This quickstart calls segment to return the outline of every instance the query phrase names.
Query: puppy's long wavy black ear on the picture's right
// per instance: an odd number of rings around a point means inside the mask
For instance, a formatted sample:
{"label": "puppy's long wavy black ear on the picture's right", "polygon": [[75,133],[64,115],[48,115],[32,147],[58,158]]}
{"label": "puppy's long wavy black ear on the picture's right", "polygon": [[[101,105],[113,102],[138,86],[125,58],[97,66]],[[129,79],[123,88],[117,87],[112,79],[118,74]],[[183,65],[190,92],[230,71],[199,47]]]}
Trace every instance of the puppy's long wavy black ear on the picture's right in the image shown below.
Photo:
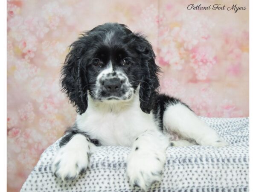
{"label": "puppy's long wavy black ear on the picture's right", "polygon": [[157,74],[160,67],[155,63],[155,54],[151,44],[138,35],[139,44],[137,50],[141,56],[142,79],[140,81],[140,108],[145,113],[150,113],[154,107],[154,99],[158,93],[159,79]]}

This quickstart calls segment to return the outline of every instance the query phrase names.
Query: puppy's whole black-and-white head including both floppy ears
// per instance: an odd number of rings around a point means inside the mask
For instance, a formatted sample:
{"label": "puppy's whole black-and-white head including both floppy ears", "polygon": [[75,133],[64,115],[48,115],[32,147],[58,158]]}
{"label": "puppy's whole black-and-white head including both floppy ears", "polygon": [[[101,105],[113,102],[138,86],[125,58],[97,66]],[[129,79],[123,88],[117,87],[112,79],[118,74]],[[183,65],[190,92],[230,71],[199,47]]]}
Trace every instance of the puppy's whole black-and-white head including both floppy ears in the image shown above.
{"label": "puppy's whole black-and-white head including both floppy ears", "polygon": [[95,101],[129,101],[138,86],[140,108],[150,113],[159,87],[155,55],[143,35],[127,26],[105,23],[85,32],[70,46],[61,85],[82,114],[87,94]]}

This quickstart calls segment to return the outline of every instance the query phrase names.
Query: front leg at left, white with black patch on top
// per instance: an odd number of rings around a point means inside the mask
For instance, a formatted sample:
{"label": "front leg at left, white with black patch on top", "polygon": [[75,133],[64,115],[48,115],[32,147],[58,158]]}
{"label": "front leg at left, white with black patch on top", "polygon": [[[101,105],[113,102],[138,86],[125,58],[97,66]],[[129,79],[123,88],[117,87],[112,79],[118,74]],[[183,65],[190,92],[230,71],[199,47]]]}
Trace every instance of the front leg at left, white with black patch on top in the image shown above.
{"label": "front leg at left, white with black patch on top", "polygon": [[87,169],[90,152],[96,146],[84,134],[70,132],[60,142],[52,163],[52,172],[62,180],[74,180]]}

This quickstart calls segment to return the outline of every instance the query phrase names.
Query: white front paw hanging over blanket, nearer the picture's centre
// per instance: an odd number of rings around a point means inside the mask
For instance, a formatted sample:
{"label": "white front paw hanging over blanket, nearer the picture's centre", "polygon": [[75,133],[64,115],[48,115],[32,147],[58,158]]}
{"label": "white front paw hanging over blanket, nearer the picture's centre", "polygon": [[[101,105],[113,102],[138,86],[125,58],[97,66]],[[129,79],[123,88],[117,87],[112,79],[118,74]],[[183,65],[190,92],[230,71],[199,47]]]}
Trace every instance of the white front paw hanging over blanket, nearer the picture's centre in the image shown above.
{"label": "white front paw hanging over blanket, nearer the picture's centre", "polygon": [[154,181],[161,181],[166,160],[164,152],[132,151],[128,157],[127,174],[131,186],[147,190]]}

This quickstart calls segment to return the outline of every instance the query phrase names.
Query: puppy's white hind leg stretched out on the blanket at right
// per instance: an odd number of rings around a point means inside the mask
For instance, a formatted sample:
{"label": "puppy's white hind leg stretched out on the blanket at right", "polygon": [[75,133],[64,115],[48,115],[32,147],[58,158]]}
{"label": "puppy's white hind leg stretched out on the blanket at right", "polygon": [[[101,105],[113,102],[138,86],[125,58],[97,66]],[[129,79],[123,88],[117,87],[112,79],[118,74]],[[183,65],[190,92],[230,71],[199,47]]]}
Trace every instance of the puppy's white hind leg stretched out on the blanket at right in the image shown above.
{"label": "puppy's white hind leg stretched out on the blanket at right", "polygon": [[215,147],[228,145],[215,130],[181,102],[166,106],[163,125],[167,131],[175,131],[184,138],[195,140],[199,145]]}

